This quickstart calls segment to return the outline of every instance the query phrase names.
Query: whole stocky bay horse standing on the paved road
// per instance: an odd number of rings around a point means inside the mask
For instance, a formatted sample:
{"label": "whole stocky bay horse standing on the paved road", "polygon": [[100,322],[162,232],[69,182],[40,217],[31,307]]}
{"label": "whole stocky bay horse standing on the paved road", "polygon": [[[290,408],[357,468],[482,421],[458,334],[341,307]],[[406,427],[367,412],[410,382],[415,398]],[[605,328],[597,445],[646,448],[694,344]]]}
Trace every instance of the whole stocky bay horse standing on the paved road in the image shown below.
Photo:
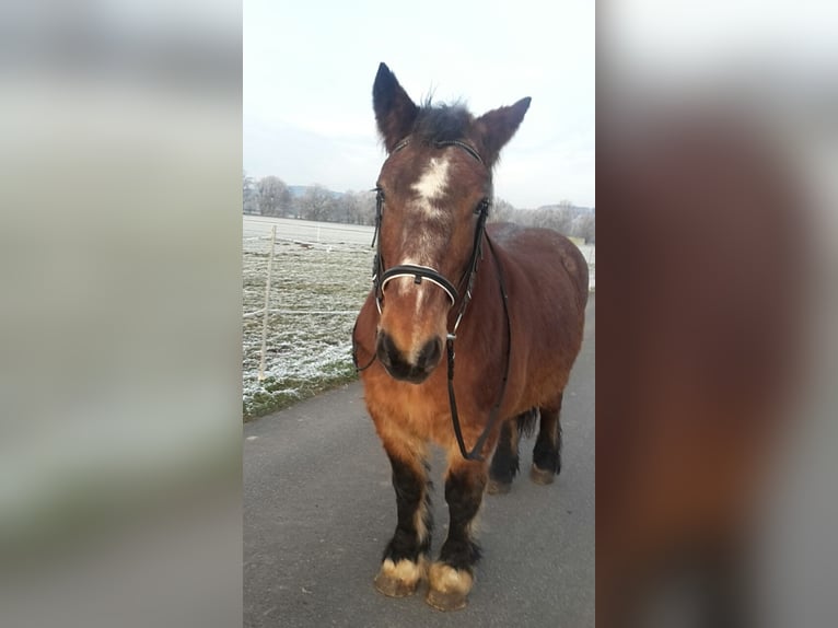
{"label": "whole stocky bay horse standing on the paved road", "polygon": [[[397,510],[374,585],[401,597],[427,580],[426,601],[440,610],[467,605],[480,558],[475,516],[488,487],[508,490],[520,430],[540,417],[535,481],[561,467],[559,411],[582,344],[587,264],[556,231],[486,223],[493,166],[529,103],[480,117],[461,104],[417,105],[385,63],[373,84],[387,158],[373,287],[352,344]],[[446,452],[450,512],[434,561],[431,442]]]}

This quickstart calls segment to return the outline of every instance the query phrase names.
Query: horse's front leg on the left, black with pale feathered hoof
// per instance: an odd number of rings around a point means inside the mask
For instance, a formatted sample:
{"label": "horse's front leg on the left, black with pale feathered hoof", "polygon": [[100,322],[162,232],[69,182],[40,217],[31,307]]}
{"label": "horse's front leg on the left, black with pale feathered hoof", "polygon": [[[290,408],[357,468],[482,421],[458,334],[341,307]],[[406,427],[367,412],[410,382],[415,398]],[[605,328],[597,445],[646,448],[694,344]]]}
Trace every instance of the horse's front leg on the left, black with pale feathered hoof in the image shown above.
{"label": "horse's front leg on the left, black with pale feathered hoof", "polygon": [[375,588],[391,597],[416,592],[426,578],[431,546],[432,515],[424,443],[387,434],[382,438],[393,467],[398,522],[384,549]]}

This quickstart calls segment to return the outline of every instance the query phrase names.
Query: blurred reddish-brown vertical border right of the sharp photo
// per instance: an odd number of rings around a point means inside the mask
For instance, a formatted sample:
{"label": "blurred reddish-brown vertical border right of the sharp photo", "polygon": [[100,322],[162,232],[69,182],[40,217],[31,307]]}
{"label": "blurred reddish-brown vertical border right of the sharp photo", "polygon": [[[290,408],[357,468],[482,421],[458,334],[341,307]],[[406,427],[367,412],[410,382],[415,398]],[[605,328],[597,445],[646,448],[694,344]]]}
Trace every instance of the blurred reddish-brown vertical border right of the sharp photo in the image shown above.
{"label": "blurred reddish-brown vertical border right of the sharp photo", "polygon": [[597,626],[834,626],[838,9],[598,9]]}

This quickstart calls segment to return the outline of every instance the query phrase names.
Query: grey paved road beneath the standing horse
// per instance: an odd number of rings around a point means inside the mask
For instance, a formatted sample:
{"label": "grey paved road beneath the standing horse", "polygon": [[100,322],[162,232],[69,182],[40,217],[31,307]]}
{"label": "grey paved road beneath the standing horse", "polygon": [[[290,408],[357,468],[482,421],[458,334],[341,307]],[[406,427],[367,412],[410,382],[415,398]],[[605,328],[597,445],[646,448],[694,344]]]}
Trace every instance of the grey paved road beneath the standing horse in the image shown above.
{"label": "grey paved road beneath the standing horse", "polygon": [[[440,613],[373,588],[396,521],[389,464],[351,384],[244,428],[244,625],[437,627],[594,625],[594,299],[565,395],[565,467],[487,496],[484,560],[469,606]],[[522,442],[528,468],[533,441]],[[447,509],[432,478],[439,549]]]}

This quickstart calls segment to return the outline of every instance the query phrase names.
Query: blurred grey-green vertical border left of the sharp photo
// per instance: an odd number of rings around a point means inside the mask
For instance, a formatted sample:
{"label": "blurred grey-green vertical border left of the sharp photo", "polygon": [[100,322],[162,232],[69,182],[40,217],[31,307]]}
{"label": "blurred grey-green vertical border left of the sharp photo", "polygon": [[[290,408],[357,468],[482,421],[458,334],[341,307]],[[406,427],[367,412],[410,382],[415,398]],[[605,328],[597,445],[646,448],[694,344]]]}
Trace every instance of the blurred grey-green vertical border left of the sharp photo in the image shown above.
{"label": "blurred grey-green vertical border left of the sharp photo", "polygon": [[0,625],[242,620],[238,2],[0,9]]}

